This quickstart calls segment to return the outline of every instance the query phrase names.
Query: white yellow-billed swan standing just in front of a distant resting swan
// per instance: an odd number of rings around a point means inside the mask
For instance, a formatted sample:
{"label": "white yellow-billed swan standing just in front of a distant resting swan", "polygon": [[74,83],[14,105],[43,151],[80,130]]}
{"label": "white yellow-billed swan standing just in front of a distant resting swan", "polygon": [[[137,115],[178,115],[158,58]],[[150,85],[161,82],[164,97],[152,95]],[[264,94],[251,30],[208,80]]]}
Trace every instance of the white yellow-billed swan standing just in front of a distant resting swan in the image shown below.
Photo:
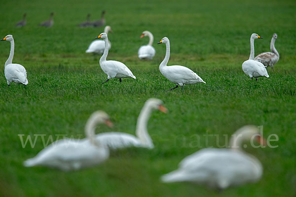
{"label": "white yellow-billed swan standing just in front of a distant resting swan", "polygon": [[100,66],[102,70],[108,75],[108,78],[103,83],[108,82],[111,78],[119,78],[120,83],[121,83],[121,78],[131,77],[136,79],[132,71],[130,71],[130,69],[128,69],[128,67],[125,66],[123,63],[113,61],[113,60],[108,60],[108,61],[106,60],[108,56],[108,51],[109,51],[109,42],[108,42],[107,33],[101,33],[96,38],[103,38],[105,41],[105,49],[100,59]]}

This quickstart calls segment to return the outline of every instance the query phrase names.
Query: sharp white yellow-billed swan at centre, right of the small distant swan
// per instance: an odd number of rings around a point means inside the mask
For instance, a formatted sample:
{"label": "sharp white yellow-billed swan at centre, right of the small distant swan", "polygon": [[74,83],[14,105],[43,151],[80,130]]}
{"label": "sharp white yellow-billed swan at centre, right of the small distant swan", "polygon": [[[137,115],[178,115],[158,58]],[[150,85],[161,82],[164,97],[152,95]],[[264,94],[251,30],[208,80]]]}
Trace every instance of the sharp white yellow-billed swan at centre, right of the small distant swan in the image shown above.
{"label": "sharp white yellow-billed swan at centre, right of the small distant swan", "polygon": [[178,88],[178,85],[183,89],[184,85],[206,83],[195,72],[185,66],[167,66],[170,59],[170,40],[169,38],[164,37],[157,44],[161,43],[166,44],[166,54],[164,60],[159,65],[159,70],[169,81],[177,84],[176,87],[173,87],[170,90]]}

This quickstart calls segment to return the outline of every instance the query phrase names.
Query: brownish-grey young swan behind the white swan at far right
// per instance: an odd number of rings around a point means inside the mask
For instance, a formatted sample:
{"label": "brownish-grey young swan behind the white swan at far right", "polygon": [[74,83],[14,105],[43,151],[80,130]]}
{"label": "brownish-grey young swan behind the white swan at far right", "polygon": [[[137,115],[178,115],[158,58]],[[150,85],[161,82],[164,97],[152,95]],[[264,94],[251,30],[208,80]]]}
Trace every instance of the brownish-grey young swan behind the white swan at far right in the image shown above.
{"label": "brownish-grey young swan behind the white swan at far right", "polygon": [[277,39],[277,34],[273,33],[273,36],[270,41],[271,52],[260,53],[258,56],[255,57],[256,61],[262,63],[266,67],[270,66],[271,68],[273,68],[273,65],[275,65],[280,59],[280,54],[277,52],[277,50],[274,47],[274,43],[276,39]]}

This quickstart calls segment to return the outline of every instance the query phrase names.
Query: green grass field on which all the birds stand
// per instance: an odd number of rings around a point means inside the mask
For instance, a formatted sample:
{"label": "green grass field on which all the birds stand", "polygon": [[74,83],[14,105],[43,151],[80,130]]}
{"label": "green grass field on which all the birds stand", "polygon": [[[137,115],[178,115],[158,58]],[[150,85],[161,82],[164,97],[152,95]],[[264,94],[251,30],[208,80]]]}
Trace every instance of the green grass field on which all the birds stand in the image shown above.
{"label": "green grass field on which all the birds stand", "polygon": [[[100,56],[85,54],[89,43],[103,28],[81,29],[76,25],[100,18],[106,9],[113,33],[109,60],[125,63],[137,77],[111,79],[99,66]],[[55,12],[54,26],[37,27]],[[27,26],[15,28],[27,12]],[[14,63],[28,71],[29,84],[7,87],[4,63],[9,42],[0,42],[0,197],[293,197],[296,195],[296,1],[295,0],[137,0],[1,2],[0,36],[12,34]],[[140,61],[137,51],[148,43],[144,30],[154,34],[156,55]],[[250,35],[255,54],[269,51],[272,33],[280,60],[270,78],[251,80],[242,71],[249,58]],[[184,65],[207,84],[165,91],[175,84],[159,72],[165,46],[156,45],[164,36],[171,42],[168,65]],[[0,38],[0,39],[1,39]],[[61,172],[44,167],[25,168],[22,162],[42,148],[22,148],[18,134],[68,134],[84,136],[84,125],[94,110],[104,110],[114,128],[100,131],[134,133],[138,114],[146,99],[162,99],[169,113],[154,112],[148,131],[155,148],[112,152],[101,165]],[[187,155],[207,146],[203,134],[232,134],[246,124],[263,126],[264,136],[277,134],[277,148],[247,148],[262,163],[258,183],[229,188],[218,194],[188,183],[163,184],[159,177],[177,168]],[[191,142],[200,136],[200,146]],[[221,142],[221,143],[222,143]],[[216,146],[216,139],[209,138]]]}

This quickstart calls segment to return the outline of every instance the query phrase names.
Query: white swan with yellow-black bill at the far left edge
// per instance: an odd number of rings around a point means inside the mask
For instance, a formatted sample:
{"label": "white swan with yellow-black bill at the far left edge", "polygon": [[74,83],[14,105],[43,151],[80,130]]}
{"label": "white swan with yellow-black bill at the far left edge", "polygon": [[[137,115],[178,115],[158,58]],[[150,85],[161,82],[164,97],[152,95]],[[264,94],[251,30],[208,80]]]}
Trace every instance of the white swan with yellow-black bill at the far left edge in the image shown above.
{"label": "white swan with yellow-black bill at the far left edge", "polygon": [[25,67],[19,64],[12,64],[12,59],[14,55],[14,40],[12,35],[6,35],[0,41],[2,40],[7,40],[10,42],[10,54],[4,65],[4,74],[7,80],[7,85],[9,86],[11,82],[27,85],[28,79]]}

